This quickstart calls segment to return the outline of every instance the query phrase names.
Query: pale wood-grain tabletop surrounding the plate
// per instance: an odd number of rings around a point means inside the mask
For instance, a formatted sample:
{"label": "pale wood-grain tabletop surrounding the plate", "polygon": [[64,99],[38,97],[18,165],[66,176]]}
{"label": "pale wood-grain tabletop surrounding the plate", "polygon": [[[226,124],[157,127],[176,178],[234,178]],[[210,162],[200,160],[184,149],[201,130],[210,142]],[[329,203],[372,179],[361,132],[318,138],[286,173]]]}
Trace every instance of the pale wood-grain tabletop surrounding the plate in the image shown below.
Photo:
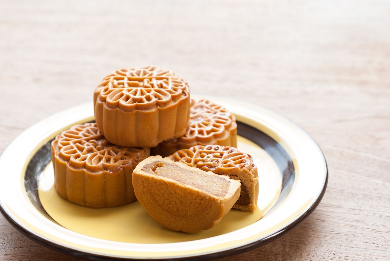
{"label": "pale wood-grain tabletop surrounding the plate", "polygon": [[[193,93],[286,116],[324,152],[323,201],[223,260],[390,260],[388,1],[0,1],[0,61],[0,151],[128,66],[168,67]],[[0,217],[0,260],[80,259]]]}

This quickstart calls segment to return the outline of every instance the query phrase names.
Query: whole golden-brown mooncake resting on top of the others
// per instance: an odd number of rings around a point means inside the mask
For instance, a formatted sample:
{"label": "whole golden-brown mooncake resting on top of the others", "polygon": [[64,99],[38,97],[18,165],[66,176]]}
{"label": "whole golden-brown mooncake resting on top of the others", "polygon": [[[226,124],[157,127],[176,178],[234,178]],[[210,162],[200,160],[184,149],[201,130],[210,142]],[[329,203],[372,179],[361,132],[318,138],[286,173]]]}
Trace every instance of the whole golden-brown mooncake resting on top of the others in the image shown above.
{"label": "whole golden-brown mooncake resting on top of the others", "polygon": [[111,143],[154,147],[186,133],[190,89],[168,69],[121,69],[96,87],[94,111],[97,126]]}

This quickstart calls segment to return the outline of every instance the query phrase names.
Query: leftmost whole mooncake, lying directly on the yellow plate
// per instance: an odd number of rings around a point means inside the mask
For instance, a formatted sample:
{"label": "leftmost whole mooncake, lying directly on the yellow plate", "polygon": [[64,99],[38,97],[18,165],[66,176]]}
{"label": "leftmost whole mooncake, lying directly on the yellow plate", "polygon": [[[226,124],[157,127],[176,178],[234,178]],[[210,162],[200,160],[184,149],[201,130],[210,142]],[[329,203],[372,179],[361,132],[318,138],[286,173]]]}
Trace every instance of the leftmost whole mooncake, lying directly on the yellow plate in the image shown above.
{"label": "leftmost whole mooncake, lying directly on the yellow plate", "polygon": [[76,125],[51,142],[55,189],[73,203],[91,208],[121,206],[136,199],[131,175],[149,148],[109,143],[96,123]]}

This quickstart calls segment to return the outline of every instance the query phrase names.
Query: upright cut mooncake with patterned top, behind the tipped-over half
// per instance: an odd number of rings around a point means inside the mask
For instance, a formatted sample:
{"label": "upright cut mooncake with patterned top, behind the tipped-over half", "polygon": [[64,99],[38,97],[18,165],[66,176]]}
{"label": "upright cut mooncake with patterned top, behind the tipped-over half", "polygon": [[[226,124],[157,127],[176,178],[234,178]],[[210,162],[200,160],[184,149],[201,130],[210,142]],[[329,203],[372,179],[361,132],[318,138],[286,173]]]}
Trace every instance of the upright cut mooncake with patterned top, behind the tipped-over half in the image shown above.
{"label": "upright cut mooncake with patterned top, behind the tipped-over half", "polygon": [[253,158],[229,146],[194,146],[179,150],[169,157],[191,167],[213,171],[241,181],[241,195],[233,208],[253,212],[259,195],[259,178]]}

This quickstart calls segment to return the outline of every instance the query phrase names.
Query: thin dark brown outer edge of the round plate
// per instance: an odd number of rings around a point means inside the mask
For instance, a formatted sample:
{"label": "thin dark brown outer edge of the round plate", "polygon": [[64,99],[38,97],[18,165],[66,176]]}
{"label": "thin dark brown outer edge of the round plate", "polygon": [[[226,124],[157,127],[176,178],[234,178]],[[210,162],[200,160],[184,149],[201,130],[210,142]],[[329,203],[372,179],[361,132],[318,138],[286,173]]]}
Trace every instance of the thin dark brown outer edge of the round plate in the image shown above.
{"label": "thin dark brown outer edge of the round plate", "polygon": [[[213,97],[213,98],[216,98],[216,97]],[[222,98],[222,99],[225,99],[225,100],[228,99],[228,98],[224,98],[224,97],[219,97],[219,98]],[[278,116],[283,117],[285,120],[287,120],[290,123],[292,123],[293,125],[295,125],[295,127],[298,127],[305,134],[305,136],[310,138],[311,141],[319,149],[319,152],[321,153],[321,156],[323,157],[324,166],[325,166],[325,170],[326,170],[325,180],[324,180],[324,184],[322,186],[321,192],[318,194],[317,198],[310,205],[310,207],[305,212],[300,213],[299,217],[296,218],[295,220],[293,220],[291,223],[289,223],[286,226],[278,229],[277,231],[273,231],[272,234],[267,235],[264,238],[260,238],[258,240],[254,240],[254,241],[249,242],[249,243],[243,243],[242,245],[228,247],[228,248],[222,249],[222,250],[215,250],[215,251],[211,251],[211,252],[204,252],[202,254],[190,254],[190,255],[186,255],[186,256],[184,255],[184,256],[177,256],[177,257],[163,257],[163,258],[159,258],[159,257],[145,257],[145,258],[140,258],[140,257],[121,257],[121,256],[112,256],[112,255],[109,255],[109,254],[99,254],[99,253],[96,253],[96,252],[91,252],[89,250],[76,249],[76,248],[71,248],[71,247],[67,247],[67,246],[58,244],[57,242],[55,242],[53,240],[50,240],[50,239],[47,239],[47,238],[45,238],[42,235],[35,235],[31,231],[28,231],[28,229],[24,228],[21,224],[19,224],[17,222],[18,220],[14,220],[11,216],[9,216],[7,214],[7,212],[5,212],[5,210],[3,209],[2,204],[0,204],[0,212],[2,213],[2,215],[5,217],[5,219],[13,227],[15,227],[18,231],[20,231],[22,234],[24,234],[28,238],[32,239],[33,241],[35,241],[37,243],[40,243],[41,245],[44,245],[45,247],[48,247],[50,249],[56,250],[58,252],[62,252],[64,254],[70,254],[72,256],[83,257],[83,258],[94,259],[94,260],[145,260],[145,259],[153,259],[153,260],[167,260],[167,259],[169,259],[169,260],[181,260],[181,259],[186,259],[186,260],[198,260],[198,259],[210,260],[210,259],[230,256],[230,255],[233,255],[233,254],[239,254],[239,253],[245,252],[247,250],[254,249],[256,247],[260,247],[261,245],[269,243],[269,242],[271,242],[271,241],[273,241],[273,240],[275,240],[277,238],[280,238],[281,236],[285,235],[291,229],[293,229],[294,227],[298,226],[303,220],[305,220],[317,208],[317,206],[321,202],[321,199],[323,198],[324,193],[326,191],[329,174],[328,174],[328,166],[327,166],[327,162],[326,162],[324,153],[322,152],[321,148],[316,143],[316,141],[310,136],[310,134],[308,134],[308,132],[306,132],[302,127],[300,127],[296,123],[292,122],[288,118],[286,118],[286,117],[284,117],[284,116],[282,116],[282,115],[280,115],[280,114],[278,114],[278,113],[276,113],[274,111],[271,111],[271,110],[269,110],[267,108],[258,106],[256,104],[253,104],[253,105],[255,105],[257,107],[260,107],[262,109],[265,109],[265,110],[267,110],[267,111],[269,111],[271,113],[277,114]],[[64,112],[64,111],[60,111],[59,113],[62,113],[62,112]],[[45,119],[43,119],[41,121],[44,121]],[[39,124],[41,121],[35,123],[34,125]],[[34,125],[32,125],[32,126],[34,126]],[[30,126],[27,129],[30,129],[32,126]],[[21,134],[19,134],[14,139],[12,139],[12,141],[4,148],[4,150],[0,154],[0,156],[7,150],[7,148],[10,145],[12,145],[13,141],[15,139],[17,139]],[[0,201],[0,203],[1,203],[1,201]]]}

